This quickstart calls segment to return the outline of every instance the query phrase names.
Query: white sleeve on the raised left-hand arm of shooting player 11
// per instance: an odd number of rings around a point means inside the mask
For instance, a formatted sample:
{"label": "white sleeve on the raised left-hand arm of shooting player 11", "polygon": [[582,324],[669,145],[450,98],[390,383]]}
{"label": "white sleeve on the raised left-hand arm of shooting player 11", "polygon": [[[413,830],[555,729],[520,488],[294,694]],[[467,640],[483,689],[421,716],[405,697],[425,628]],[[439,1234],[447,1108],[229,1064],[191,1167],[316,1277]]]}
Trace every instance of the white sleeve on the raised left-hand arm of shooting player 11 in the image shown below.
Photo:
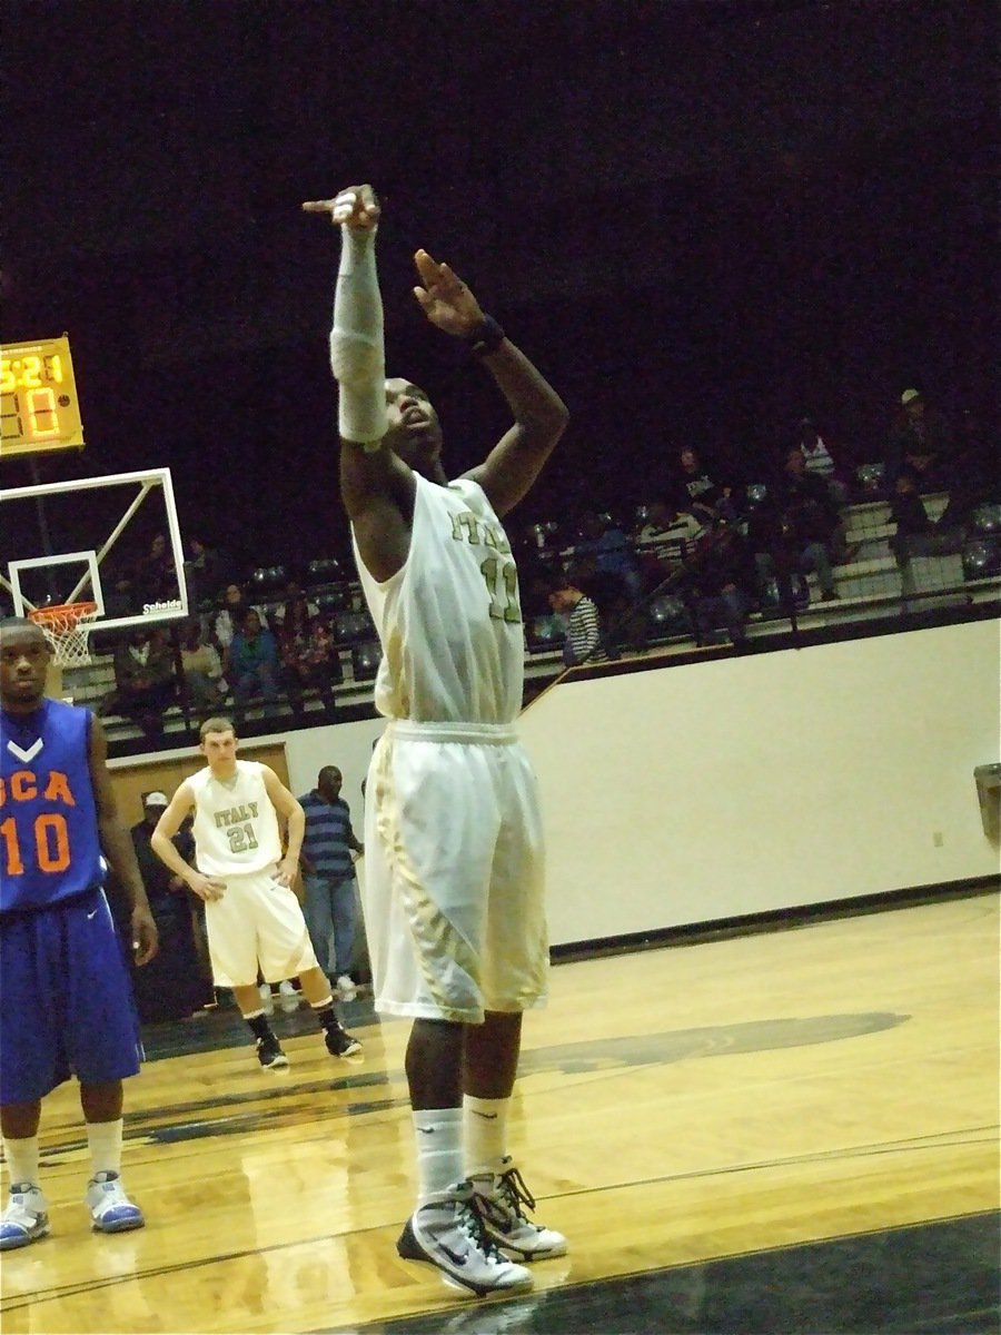
{"label": "white sleeve on the raised left-hand arm of shooting player 11", "polygon": [[340,228],[340,268],[330,331],[330,364],[340,386],[338,425],[344,441],[386,435],[386,351],[375,272],[375,230]]}

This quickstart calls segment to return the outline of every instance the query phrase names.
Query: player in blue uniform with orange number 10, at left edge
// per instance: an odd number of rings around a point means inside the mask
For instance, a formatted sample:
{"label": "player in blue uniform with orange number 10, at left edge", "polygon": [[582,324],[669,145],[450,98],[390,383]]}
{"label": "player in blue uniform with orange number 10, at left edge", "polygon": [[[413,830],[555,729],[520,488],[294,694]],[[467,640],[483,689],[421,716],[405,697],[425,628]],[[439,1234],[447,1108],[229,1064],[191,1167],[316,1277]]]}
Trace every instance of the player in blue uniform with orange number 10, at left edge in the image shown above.
{"label": "player in blue uniform with orange number 10, at left edge", "polygon": [[107,746],[89,710],[45,698],[51,649],[20,617],[0,621],[0,1128],[9,1197],[0,1251],[49,1231],[39,1184],[41,1100],[75,1075],[91,1152],[84,1202],[95,1230],[141,1228],[121,1185],[121,1081],[141,1048],[128,971],[103,881],[132,905],[136,964],[156,925],[115,806]]}

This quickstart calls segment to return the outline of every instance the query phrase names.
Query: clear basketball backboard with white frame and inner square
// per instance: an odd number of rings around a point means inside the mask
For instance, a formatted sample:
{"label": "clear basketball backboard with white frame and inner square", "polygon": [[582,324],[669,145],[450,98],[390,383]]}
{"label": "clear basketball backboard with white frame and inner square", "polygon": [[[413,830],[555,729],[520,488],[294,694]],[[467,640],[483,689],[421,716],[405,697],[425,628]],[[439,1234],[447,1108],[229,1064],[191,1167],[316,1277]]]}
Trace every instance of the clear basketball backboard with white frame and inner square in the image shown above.
{"label": "clear basketball backboard with white frame and inner square", "polygon": [[95,630],[188,615],[170,469],[0,489],[0,590],[15,615],[83,599],[97,603]]}

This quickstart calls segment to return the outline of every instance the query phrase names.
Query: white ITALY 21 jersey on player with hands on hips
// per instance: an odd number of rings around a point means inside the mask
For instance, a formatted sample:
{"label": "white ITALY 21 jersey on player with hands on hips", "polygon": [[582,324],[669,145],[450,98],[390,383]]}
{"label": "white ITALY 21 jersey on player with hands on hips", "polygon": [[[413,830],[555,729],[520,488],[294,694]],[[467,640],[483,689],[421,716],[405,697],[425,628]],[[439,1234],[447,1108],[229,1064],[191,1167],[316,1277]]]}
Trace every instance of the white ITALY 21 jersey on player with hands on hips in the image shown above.
{"label": "white ITALY 21 jersey on player with hands on hips", "polygon": [[263,770],[255,760],[238,760],[232,778],[215,778],[206,765],[188,780],[195,862],[204,876],[262,872],[282,860],[282,832]]}

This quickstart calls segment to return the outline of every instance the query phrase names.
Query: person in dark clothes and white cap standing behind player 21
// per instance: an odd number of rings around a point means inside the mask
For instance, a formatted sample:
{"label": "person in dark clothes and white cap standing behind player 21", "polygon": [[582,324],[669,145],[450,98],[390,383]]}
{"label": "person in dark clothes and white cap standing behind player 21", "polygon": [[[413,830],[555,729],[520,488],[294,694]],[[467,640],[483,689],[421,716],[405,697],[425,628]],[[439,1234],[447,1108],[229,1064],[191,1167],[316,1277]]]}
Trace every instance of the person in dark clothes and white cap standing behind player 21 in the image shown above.
{"label": "person in dark clothes and white cap standing behind player 21", "polygon": [[[143,820],[131,830],[139,874],[160,937],[155,959],[141,969],[132,969],[132,991],[144,1024],[184,1020],[212,999],[211,981],[202,976],[187,886],[163,865],[149,842],[165,809],[165,793],[145,793]],[[195,841],[190,830],[179,830],[174,845],[186,862],[194,864]]]}

